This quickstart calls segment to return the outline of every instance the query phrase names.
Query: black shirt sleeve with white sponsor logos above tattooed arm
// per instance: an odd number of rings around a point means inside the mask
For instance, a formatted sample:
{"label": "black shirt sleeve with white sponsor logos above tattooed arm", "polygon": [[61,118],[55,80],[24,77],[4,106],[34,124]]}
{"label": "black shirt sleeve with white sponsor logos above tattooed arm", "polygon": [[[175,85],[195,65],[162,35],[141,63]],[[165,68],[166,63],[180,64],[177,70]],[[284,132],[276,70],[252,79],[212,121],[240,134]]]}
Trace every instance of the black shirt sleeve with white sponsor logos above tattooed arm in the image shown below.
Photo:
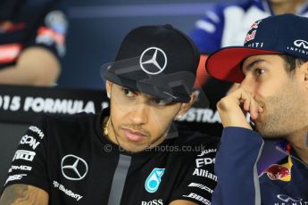
{"label": "black shirt sleeve with white sponsor logos above tattooed arm", "polygon": [[39,119],[21,136],[4,188],[29,184],[49,193],[46,170],[46,127],[44,119]]}

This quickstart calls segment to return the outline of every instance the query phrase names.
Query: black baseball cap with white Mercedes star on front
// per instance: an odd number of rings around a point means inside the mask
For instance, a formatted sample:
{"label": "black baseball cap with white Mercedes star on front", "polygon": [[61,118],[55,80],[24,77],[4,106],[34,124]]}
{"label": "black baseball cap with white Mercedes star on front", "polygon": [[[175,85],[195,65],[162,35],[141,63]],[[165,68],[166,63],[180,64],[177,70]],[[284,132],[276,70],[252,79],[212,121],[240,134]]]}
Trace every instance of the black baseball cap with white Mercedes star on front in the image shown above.
{"label": "black baseball cap with white Mercedes star on front", "polygon": [[171,25],[132,29],[103,76],[114,84],[170,102],[188,102],[200,53],[192,40]]}

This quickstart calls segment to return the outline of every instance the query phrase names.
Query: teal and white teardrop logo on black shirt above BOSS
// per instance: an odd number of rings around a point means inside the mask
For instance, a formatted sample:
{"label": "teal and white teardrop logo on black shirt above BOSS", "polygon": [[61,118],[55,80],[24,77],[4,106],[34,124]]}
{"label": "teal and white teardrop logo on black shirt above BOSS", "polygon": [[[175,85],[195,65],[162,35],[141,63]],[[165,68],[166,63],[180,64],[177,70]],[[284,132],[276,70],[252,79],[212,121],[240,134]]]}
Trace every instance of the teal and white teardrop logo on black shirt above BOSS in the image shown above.
{"label": "teal and white teardrop logo on black shirt above BOSS", "polygon": [[154,168],[150,175],[147,176],[145,187],[148,193],[155,193],[158,190],[164,170],[165,168]]}

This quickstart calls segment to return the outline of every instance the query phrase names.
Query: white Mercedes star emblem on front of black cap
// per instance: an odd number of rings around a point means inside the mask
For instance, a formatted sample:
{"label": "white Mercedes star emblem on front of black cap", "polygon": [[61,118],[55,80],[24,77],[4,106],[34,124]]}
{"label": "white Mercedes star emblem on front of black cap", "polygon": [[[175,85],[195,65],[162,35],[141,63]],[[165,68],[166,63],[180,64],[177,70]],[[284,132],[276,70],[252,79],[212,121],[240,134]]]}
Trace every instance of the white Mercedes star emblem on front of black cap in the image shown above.
{"label": "white Mercedes star emblem on front of black cap", "polygon": [[139,59],[140,67],[147,74],[157,75],[167,66],[167,56],[158,47],[149,47],[141,54]]}

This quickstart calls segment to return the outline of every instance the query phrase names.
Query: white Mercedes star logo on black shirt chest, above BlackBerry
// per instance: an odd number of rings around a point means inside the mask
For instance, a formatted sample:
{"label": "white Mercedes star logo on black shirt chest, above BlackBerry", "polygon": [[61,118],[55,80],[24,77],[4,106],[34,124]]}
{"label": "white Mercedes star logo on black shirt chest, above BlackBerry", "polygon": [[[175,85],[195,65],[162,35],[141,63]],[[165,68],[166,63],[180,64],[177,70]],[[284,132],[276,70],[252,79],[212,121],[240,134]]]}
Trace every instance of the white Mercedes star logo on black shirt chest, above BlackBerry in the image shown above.
{"label": "white Mercedes star logo on black shirt chest, above BlackBerry", "polygon": [[62,175],[69,180],[81,180],[87,175],[87,162],[75,155],[68,154],[62,158]]}

